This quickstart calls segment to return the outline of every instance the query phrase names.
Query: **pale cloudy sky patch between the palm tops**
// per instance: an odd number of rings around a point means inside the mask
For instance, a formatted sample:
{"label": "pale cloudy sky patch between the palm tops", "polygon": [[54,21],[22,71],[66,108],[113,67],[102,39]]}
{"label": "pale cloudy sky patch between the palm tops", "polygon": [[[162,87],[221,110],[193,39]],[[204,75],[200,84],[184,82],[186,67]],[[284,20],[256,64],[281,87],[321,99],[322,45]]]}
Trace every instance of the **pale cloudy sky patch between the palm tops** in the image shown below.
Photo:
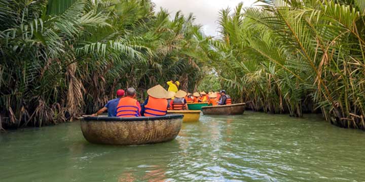
{"label": "pale cloudy sky patch between the palm tops", "polygon": [[193,13],[196,20],[195,23],[203,25],[202,29],[205,34],[217,35],[217,19],[219,11],[230,7],[234,10],[236,6],[243,2],[244,7],[251,7],[257,0],[152,0],[156,4],[157,10],[160,7],[167,9],[170,17],[173,18],[179,10],[184,15]]}

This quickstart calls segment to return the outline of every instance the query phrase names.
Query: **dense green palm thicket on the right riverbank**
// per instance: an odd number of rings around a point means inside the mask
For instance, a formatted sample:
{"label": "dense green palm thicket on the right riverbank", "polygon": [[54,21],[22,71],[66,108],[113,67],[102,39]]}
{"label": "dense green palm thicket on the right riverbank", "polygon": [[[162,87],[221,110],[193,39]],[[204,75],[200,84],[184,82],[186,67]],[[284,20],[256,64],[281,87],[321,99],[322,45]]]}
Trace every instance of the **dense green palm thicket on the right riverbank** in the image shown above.
{"label": "dense green palm thicket on the right riverbank", "polygon": [[365,2],[260,4],[221,11],[222,37],[203,47],[223,86],[254,110],[364,129]]}

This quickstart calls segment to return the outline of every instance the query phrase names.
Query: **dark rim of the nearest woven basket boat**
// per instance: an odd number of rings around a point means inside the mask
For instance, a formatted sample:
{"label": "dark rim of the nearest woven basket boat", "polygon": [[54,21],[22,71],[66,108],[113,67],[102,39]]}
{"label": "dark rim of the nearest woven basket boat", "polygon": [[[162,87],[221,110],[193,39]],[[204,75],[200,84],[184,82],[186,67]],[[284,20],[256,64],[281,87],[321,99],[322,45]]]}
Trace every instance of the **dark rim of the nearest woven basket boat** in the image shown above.
{"label": "dark rim of the nearest woven basket boat", "polygon": [[104,117],[104,116],[85,116],[82,119],[84,121],[154,121],[161,119],[180,119],[183,118],[182,114],[170,114],[165,116],[153,116],[153,117]]}

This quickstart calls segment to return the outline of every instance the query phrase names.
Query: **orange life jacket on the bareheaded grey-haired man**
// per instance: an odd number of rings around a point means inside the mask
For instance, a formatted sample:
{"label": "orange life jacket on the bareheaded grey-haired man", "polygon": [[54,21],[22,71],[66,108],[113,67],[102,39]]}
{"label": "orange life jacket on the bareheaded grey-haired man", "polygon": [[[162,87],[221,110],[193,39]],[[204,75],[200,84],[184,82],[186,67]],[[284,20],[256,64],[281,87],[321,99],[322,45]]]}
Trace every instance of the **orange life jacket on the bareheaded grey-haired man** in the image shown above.
{"label": "orange life jacket on the bareheaded grey-haired man", "polygon": [[137,100],[131,97],[124,97],[119,100],[117,110],[117,117],[138,117],[139,108],[137,107]]}

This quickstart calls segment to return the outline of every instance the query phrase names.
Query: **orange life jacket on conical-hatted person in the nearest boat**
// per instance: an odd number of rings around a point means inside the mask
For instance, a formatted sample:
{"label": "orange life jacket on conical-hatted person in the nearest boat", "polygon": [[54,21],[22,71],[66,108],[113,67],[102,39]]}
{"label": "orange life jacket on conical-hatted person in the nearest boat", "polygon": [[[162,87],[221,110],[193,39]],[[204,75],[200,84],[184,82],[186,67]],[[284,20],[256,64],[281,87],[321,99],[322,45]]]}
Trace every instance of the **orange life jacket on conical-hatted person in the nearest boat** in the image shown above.
{"label": "orange life jacket on conical-hatted person in the nearest boat", "polygon": [[167,100],[149,96],[149,101],[144,106],[144,116],[164,116],[166,113]]}

